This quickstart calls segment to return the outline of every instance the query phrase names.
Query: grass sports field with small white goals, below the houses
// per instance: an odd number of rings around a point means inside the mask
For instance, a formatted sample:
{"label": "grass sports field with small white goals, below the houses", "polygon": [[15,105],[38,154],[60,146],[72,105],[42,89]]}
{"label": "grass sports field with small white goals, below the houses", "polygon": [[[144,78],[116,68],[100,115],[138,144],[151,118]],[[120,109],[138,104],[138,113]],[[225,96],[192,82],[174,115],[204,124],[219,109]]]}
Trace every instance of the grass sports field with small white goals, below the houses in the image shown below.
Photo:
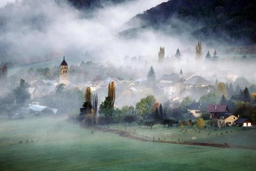
{"label": "grass sports field with small white goals, below the houses", "polygon": [[[106,127],[106,126],[102,126]],[[132,123],[130,126],[127,124],[112,124],[109,126],[114,130],[126,130],[132,132],[133,135],[139,136],[145,139],[166,140],[166,141],[189,141],[189,142],[206,142],[217,144],[229,144],[231,146],[240,146],[245,148],[256,149],[256,129],[245,128],[239,126],[225,126],[218,129],[214,126],[207,125],[207,130],[195,129],[190,126],[184,127],[182,130],[180,127],[164,127],[157,124],[153,126],[151,130],[149,127],[139,127],[136,123]],[[172,136],[164,136],[164,134],[170,133]],[[197,140],[191,140],[192,137],[196,137]]]}

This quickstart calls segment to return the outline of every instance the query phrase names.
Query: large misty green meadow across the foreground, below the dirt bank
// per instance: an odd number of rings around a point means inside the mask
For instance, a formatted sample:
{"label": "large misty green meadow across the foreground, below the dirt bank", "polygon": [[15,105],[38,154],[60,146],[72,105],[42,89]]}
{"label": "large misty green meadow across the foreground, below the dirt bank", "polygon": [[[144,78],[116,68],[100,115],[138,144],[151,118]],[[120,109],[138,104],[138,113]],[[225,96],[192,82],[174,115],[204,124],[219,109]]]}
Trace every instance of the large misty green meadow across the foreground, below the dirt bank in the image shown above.
{"label": "large misty green meadow across the foreground, below the dirt bank", "polygon": [[253,170],[256,167],[256,151],[252,149],[142,142],[109,132],[92,134],[91,130],[67,122],[66,117],[23,120],[0,117],[0,149],[0,170]]}

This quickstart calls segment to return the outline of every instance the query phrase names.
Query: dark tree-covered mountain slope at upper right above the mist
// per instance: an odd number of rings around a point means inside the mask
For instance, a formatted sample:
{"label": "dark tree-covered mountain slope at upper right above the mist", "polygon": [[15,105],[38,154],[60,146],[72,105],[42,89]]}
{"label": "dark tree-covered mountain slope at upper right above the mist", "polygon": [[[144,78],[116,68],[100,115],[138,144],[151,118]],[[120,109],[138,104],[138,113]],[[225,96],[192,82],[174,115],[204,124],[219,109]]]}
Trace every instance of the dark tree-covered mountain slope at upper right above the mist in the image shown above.
{"label": "dark tree-covered mountain slope at upper right above the mist", "polygon": [[256,42],[255,16],[256,3],[250,0],[171,0],[136,15],[128,24],[132,32],[154,28],[166,33],[188,31],[198,38]]}

